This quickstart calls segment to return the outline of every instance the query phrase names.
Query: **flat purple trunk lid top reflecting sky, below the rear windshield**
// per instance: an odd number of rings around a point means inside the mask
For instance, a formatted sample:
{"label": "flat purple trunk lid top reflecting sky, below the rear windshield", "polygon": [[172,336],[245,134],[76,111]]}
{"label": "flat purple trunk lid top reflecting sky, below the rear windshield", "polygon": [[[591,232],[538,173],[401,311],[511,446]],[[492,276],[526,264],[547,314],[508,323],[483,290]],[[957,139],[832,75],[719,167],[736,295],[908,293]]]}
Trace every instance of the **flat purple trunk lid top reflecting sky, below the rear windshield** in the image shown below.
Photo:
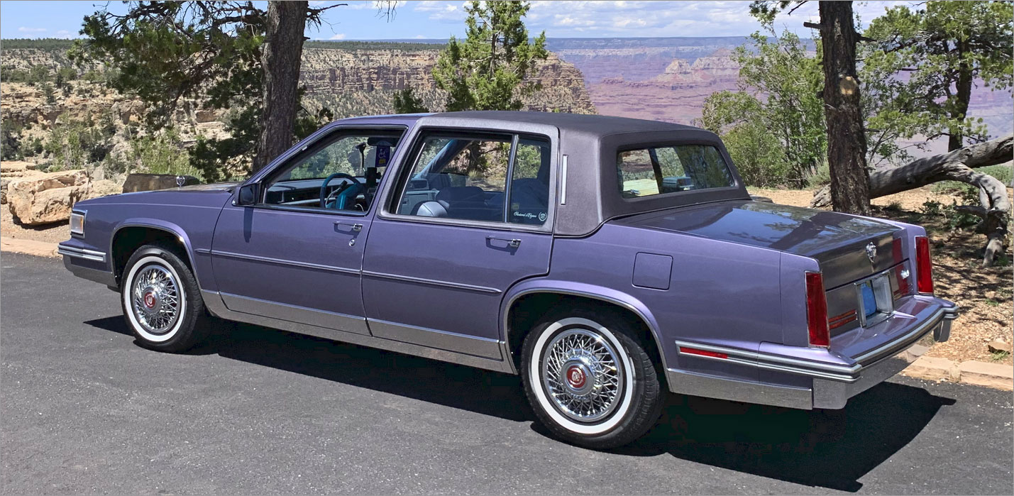
{"label": "flat purple trunk lid top reflecting sky, below the rear windshield", "polygon": [[619,223],[817,258],[898,229],[868,217],[745,200],[635,215]]}

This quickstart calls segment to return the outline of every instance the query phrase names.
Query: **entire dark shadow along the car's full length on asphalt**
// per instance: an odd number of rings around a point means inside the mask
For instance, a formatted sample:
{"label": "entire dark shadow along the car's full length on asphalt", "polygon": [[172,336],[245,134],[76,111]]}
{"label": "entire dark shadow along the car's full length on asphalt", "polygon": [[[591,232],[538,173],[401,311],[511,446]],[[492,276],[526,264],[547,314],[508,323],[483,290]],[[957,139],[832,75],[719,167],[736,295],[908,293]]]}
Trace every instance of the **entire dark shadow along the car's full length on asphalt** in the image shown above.
{"label": "entire dark shadow along the car's full length on asphalt", "polygon": [[[85,324],[131,336],[122,316]],[[495,416],[534,421],[520,378],[260,326],[221,326],[190,352]],[[396,379],[394,379],[396,377]],[[618,455],[669,454],[796,484],[858,491],[859,479],[912,441],[954,400],[884,382],[844,410],[792,410],[670,395],[662,419]],[[538,423],[531,428],[549,432]]]}

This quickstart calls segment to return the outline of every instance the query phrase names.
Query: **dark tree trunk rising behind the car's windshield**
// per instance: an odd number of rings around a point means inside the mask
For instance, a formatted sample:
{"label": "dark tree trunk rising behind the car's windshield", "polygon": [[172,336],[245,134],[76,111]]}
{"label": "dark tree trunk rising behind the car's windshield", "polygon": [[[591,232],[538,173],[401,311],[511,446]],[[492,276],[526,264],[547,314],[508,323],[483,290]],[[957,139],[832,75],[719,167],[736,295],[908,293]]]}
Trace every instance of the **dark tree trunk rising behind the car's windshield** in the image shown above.
{"label": "dark tree trunk rising behind the car's windshield", "polygon": [[255,171],[292,146],[307,9],[305,1],[268,2],[268,25],[261,55],[264,101]]}

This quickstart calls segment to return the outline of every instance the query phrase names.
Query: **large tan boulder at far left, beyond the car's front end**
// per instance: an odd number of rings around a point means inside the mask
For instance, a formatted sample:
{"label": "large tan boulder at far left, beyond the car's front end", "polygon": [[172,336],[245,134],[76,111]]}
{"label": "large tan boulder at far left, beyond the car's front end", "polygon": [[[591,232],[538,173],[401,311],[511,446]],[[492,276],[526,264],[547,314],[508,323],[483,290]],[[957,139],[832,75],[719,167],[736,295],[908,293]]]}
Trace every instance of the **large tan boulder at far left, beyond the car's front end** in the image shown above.
{"label": "large tan boulder at far left, beyond the car's front end", "polygon": [[87,197],[91,182],[84,170],[41,173],[7,185],[10,213],[25,225],[50,224],[70,219],[70,210]]}

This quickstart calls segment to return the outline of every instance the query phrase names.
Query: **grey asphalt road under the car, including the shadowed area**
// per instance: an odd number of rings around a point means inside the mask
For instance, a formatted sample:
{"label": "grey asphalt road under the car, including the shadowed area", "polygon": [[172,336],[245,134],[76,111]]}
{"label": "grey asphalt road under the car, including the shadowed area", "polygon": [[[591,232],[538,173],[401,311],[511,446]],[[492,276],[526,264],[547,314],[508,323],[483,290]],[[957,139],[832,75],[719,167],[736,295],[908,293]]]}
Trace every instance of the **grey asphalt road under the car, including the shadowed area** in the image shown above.
{"label": "grey asphalt road under the car, including the shadowed area", "polygon": [[596,452],[547,437],[514,376],[249,326],[159,354],[59,261],[0,264],[3,493],[1011,493],[1010,393],[897,378],[839,414],[673,397]]}

